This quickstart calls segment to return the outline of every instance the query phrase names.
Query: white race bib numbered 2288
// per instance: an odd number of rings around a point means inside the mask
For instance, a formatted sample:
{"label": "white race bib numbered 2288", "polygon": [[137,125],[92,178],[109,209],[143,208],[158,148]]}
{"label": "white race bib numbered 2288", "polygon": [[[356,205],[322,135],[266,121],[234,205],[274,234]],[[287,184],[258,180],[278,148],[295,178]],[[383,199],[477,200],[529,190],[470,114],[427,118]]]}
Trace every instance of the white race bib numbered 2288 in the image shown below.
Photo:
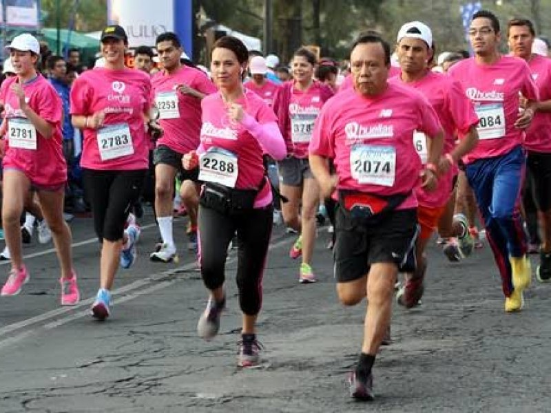
{"label": "white race bib numbered 2288", "polygon": [[226,149],[212,147],[199,157],[199,180],[236,186],[239,175],[238,158]]}

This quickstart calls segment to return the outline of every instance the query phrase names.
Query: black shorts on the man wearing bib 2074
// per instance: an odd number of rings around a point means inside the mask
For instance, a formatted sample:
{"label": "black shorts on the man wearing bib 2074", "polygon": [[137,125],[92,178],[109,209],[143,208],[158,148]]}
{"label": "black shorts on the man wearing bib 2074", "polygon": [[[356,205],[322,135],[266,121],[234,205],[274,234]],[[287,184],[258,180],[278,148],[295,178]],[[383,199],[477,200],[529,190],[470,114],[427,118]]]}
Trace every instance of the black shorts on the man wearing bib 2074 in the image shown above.
{"label": "black shorts on the man wearing bib 2074", "polygon": [[333,257],[337,282],[362,278],[371,264],[391,262],[402,267],[413,255],[417,209],[392,211],[373,224],[365,224],[345,214],[337,205],[335,234]]}

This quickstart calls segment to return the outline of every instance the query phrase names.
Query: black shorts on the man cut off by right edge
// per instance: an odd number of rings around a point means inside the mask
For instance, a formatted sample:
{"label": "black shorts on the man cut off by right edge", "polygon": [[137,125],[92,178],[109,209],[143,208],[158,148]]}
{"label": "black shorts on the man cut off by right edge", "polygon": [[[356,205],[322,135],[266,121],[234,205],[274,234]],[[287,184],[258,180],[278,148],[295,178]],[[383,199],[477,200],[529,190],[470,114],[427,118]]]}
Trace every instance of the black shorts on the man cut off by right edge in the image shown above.
{"label": "black shorts on the man cut off by right edge", "polygon": [[551,209],[551,153],[528,151],[526,165],[530,170],[532,195],[538,211]]}

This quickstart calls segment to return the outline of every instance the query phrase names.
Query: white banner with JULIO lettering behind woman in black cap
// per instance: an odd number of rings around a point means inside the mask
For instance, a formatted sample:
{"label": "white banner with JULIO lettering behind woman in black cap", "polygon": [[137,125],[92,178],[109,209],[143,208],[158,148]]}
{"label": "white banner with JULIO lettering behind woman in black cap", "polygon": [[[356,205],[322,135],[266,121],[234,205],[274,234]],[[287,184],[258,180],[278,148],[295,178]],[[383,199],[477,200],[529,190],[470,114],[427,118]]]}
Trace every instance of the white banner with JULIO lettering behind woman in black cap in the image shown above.
{"label": "white banner with JULIO lettering behind woman in black cap", "polygon": [[174,32],[174,0],[108,0],[110,23],[126,30],[130,47],[155,46],[164,32]]}

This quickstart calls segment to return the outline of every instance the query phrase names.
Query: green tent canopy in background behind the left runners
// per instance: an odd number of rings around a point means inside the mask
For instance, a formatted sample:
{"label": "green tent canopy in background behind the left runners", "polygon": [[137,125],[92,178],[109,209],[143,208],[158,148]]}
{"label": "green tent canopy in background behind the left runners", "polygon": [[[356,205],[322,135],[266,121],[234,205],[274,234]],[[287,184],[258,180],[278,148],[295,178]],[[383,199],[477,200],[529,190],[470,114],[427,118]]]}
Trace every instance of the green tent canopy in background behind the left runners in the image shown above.
{"label": "green tent canopy in background behind the left runners", "polygon": [[[40,30],[41,36],[48,43],[48,47],[52,52],[57,53],[57,29],[55,28],[43,28]],[[69,41],[67,43],[67,40]],[[81,61],[88,63],[89,65],[94,63],[94,58],[97,52],[99,52],[99,41],[87,36],[86,34],[74,32],[67,29],[59,30],[59,50],[61,55],[67,49],[79,49],[81,51]]]}

